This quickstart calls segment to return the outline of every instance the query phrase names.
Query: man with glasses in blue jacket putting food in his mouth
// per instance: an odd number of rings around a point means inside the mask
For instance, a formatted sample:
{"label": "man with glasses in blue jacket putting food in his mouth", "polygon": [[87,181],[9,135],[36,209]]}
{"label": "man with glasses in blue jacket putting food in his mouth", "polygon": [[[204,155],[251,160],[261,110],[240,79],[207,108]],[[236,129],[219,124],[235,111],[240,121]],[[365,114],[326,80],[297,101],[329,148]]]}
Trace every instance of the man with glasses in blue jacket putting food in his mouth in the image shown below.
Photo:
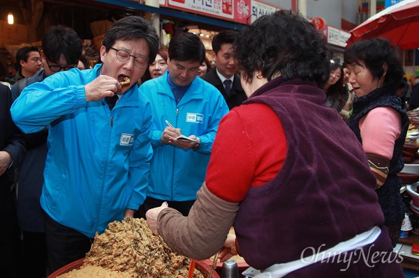
{"label": "man with glasses in blue jacket putting food in his mouth", "polygon": [[102,44],[103,63],[31,84],[11,109],[24,132],[49,130],[41,207],[51,272],[84,258],[96,232],[133,216],[145,200],[152,109],[137,82],[159,36],[131,16],[112,24]]}

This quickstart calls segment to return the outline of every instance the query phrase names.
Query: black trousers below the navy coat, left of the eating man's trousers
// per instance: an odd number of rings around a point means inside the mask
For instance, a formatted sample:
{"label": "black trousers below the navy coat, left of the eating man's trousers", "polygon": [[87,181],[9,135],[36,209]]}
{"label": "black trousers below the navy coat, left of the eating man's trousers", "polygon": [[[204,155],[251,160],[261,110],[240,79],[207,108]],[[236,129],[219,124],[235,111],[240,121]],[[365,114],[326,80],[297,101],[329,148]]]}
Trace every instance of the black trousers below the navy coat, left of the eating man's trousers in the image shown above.
{"label": "black trousers below the navy coat, left of the eating man's trousers", "polygon": [[47,277],[47,242],[45,233],[23,231],[23,277]]}

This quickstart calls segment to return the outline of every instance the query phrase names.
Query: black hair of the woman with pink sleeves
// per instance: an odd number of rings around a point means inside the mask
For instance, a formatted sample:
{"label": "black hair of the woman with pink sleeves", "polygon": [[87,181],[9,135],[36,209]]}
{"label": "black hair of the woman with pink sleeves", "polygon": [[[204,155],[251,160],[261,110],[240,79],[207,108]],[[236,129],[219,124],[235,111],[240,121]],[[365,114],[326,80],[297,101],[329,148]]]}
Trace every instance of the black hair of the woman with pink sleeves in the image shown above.
{"label": "black hair of the woman with pink sleeves", "polygon": [[346,49],[344,60],[348,65],[365,63],[372,76],[378,79],[383,77],[384,65],[387,65],[383,86],[396,89],[403,78],[402,61],[386,38],[370,38],[353,43]]}

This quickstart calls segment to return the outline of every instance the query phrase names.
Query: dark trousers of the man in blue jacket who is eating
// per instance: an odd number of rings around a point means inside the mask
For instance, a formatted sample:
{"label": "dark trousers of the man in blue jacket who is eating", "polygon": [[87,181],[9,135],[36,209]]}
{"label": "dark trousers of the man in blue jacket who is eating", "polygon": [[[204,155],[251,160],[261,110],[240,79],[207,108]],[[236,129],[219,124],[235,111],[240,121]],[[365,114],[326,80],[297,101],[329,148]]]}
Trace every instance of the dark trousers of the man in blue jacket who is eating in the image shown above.
{"label": "dark trousers of the man in blue jacket who is eating", "polygon": [[48,270],[59,270],[68,263],[84,258],[89,252],[93,239],[61,225],[44,212],[45,239],[47,242]]}

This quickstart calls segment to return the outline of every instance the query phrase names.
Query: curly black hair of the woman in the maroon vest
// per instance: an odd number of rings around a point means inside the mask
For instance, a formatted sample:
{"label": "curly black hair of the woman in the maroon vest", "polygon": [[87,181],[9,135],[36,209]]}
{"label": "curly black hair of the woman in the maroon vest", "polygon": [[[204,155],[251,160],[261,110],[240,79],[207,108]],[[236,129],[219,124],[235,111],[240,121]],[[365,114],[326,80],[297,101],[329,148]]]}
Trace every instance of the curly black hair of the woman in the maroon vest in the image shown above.
{"label": "curly black hair of the woman in the maroon vest", "polygon": [[235,42],[242,77],[248,82],[261,70],[271,80],[300,77],[314,80],[320,88],[329,78],[332,52],[326,37],[300,13],[278,10],[248,25]]}

